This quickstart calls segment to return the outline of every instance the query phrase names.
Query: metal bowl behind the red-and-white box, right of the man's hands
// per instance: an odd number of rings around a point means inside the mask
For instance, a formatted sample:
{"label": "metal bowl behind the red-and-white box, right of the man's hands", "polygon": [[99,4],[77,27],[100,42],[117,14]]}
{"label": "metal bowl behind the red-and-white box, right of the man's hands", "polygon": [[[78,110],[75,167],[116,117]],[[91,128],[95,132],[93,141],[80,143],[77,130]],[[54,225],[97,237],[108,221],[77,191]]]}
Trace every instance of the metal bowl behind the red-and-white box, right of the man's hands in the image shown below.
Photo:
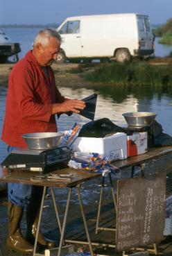
{"label": "metal bowl behind the red-and-white box, right of the man's hands", "polygon": [[153,112],[128,112],[124,113],[128,126],[144,127],[151,126],[157,114]]}

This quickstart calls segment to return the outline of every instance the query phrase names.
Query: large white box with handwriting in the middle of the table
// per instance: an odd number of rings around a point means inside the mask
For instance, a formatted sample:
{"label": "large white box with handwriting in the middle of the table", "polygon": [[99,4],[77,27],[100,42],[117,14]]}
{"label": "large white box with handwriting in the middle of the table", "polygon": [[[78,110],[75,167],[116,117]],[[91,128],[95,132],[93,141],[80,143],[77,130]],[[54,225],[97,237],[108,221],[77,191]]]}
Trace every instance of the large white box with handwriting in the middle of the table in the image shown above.
{"label": "large white box with handwriting in the middle of the table", "polygon": [[77,137],[71,148],[77,152],[98,153],[110,160],[127,158],[127,136],[125,133],[115,133],[103,138]]}

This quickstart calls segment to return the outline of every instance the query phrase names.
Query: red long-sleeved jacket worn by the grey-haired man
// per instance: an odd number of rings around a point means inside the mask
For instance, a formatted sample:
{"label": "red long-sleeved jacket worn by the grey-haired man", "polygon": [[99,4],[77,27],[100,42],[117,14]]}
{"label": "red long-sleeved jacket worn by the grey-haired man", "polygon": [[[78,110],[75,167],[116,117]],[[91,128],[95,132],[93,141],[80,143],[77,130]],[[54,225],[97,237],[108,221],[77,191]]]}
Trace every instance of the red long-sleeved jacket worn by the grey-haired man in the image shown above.
{"label": "red long-sleeved jacket worn by the grey-haired man", "polygon": [[49,78],[29,51],[13,67],[8,80],[6,114],[3,123],[3,142],[10,146],[26,147],[24,133],[55,132],[53,103],[65,100],[57,87],[51,67],[46,67]]}

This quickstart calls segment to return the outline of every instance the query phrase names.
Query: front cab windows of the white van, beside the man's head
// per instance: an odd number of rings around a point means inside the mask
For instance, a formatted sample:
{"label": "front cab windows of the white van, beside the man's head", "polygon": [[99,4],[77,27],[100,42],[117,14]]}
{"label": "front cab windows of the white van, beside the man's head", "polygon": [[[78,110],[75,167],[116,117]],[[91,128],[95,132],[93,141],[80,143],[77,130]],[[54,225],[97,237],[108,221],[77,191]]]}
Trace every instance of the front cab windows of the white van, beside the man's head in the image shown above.
{"label": "front cab windows of the white van, beside the man's head", "polygon": [[80,21],[72,20],[66,22],[60,29],[60,34],[75,34],[80,33]]}

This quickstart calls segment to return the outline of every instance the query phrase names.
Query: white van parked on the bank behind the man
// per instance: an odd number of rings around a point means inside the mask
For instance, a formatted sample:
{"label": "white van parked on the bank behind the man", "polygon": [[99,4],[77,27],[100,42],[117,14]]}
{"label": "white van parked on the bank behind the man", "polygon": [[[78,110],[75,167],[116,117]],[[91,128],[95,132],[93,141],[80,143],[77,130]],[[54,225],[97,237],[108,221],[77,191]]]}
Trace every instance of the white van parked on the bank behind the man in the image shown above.
{"label": "white van parked on the bank behind the man", "polygon": [[72,58],[149,56],[154,52],[147,15],[134,13],[69,17],[57,28],[62,37],[58,62]]}

